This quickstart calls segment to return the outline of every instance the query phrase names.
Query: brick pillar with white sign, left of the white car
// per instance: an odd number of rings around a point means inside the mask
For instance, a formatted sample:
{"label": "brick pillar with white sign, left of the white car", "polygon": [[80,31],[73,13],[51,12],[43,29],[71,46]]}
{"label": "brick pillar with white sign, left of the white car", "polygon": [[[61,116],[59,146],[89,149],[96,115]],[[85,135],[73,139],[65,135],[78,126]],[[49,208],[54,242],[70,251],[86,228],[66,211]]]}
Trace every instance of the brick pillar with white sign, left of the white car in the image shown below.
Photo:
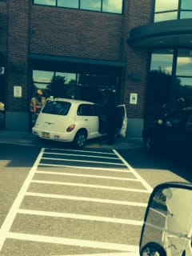
{"label": "brick pillar with white sign, left of the white car", "polygon": [[[6,111],[26,111],[28,100],[29,1],[7,1]],[[22,98],[14,97],[14,86],[22,86]]]}

